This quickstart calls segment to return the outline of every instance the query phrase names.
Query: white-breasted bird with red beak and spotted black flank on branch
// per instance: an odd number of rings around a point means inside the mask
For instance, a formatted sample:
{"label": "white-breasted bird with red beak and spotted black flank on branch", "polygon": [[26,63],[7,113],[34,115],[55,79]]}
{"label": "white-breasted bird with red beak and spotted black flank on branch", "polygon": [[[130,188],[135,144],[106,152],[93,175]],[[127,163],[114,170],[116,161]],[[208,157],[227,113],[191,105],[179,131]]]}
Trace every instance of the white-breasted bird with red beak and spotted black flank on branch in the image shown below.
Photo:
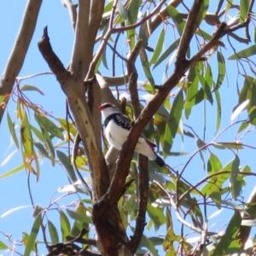
{"label": "white-breasted bird with red beak and spotted black flank on branch", "polygon": [[[104,103],[99,106],[99,108],[102,112],[102,118],[104,119],[104,125],[106,127],[105,135],[108,143],[113,146],[113,148],[121,150],[131,129],[131,120],[125,114],[121,113],[119,108],[116,108],[110,103]],[[148,140],[147,137],[140,135],[135,152],[154,160],[160,167],[166,166],[165,161],[154,152],[155,147],[156,145]]]}

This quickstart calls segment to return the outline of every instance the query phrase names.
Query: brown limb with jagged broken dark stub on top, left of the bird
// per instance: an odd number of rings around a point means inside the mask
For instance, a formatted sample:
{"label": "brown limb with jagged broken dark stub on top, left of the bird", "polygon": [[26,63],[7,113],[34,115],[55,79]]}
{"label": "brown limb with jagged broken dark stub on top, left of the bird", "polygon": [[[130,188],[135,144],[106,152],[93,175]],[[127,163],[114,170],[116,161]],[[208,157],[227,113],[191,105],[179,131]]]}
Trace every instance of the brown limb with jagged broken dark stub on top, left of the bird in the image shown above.
{"label": "brown limb with jagged broken dark stub on top, left of the bird", "polygon": [[63,67],[49,44],[47,28],[44,28],[44,35],[42,40],[38,42],[38,48],[44,60],[48,63],[50,70],[55,73],[56,79],[61,84],[61,89],[67,96],[79,135],[84,144],[85,153],[88,156],[90,175],[93,180],[93,191],[95,192],[94,196],[101,197],[108,189],[108,171],[102,151],[98,148],[94,120],[85,102],[83,93],[84,82],[80,81],[82,84],[79,84],[79,81],[73,78],[73,74]]}

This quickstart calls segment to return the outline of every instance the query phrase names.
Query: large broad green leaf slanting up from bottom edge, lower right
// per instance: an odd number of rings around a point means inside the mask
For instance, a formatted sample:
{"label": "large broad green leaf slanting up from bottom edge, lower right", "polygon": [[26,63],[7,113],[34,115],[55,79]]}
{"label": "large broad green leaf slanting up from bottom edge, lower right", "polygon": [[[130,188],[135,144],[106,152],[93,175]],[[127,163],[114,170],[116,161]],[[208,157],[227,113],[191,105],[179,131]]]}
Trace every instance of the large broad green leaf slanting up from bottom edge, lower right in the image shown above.
{"label": "large broad green leaf slanting up from bottom edge, lower right", "polygon": [[225,230],[224,236],[218,242],[212,256],[225,255],[227,249],[230,247],[232,241],[235,241],[236,235],[241,227],[241,213],[235,211],[233,217],[230,219],[230,223]]}

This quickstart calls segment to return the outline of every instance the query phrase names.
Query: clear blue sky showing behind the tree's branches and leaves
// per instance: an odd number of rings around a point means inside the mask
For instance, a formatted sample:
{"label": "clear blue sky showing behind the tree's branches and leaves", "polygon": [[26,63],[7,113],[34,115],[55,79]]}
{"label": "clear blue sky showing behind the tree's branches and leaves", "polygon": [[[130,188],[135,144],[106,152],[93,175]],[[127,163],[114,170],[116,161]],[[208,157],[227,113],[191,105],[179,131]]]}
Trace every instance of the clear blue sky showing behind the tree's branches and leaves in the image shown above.
{"label": "clear blue sky showing behind the tree's branches and leaves", "polygon": [[[23,10],[26,6],[25,0],[16,1],[15,8],[13,6],[14,3],[8,0],[1,0],[2,9],[0,9],[0,34],[2,36],[2,43],[0,48],[0,71],[3,72],[3,68],[6,64],[6,61],[9,58],[9,53],[13,47],[16,33],[18,32],[20,26],[20,20],[22,19]],[[48,26],[49,28],[49,38],[50,43],[52,44],[55,53],[59,56],[61,61],[65,66],[68,65],[70,60],[70,56],[72,54],[73,49],[73,28],[71,26],[69,16],[67,13],[67,9],[65,9],[61,1],[52,1],[45,0],[42,4],[42,8],[40,11],[40,15],[38,17],[38,25],[34,36],[32,38],[32,43],[28,50],[28,54],[26,55],[26,60],[24,62],[24,66],[20,71],[19,77],[25,77],[28,75],[32,75],[34,73],[44,73],[49,71],[49,67],[45,63],[43,57],[38,51],[38,41],[42,36],[42,32],[44,26]],[[171,31],[171,30],[170,30]],[[213,31],[209,32],[212,33]],[[159,31],[154,32],[155,37],[158,38]],[[242,34],[242,32],[241,32]],[[227,44],[226,40],[224,40],[224,44]],[[154,40],[149,41],[150,46],[154,47]],[[246,45],[239,45],[235,43],[237,49],[246,48]],[[123,49],[124,54],[125,47]],[[229,50],[229,46],[227,44],[226,49],[222,49],[224,56],[229,56],[233,54]],[[217,73],[217,64],[216,64],[216,55],[212,55],[212,69],[213,72]],[[215,61],[215,62],[214,62]],[[255,61],[255,58],[254,58]],[[214,64],[213,64],[214,63]],[[222,98],[222,106],[223,106],[223,118],[221,129],[224,129],[227,125],[230,125],[230,115],[232,113],[232,108],[235,107],[237,103],[236,96],[236,62],[235,61],[227,61],[227,73],[228,79],[224,79],[224,85],[221,89],[221,98]],[[140,68],[140,67],[138,67]],[[163,67],[157,67],[154,70],[154,78],[156,84],[160,84],[162,82],[162,70]],[[111,71],[106,69],[100,70],[103,74],[111,74]],[[120,75],[122,73],[122,69],[118,68]],[[139,69],[139,74],[143,73],[142,70]],[[171,72],[169,72],[170,74]],[[145,79],[143,75],[139,77],[140,80]],[[240,88],[242,85],[241,79],[238,81],[240,83]],[[55,77],[53,75],[42,75],[38,76],[34,79],[26,79],[21,82],[21,84],[31,84],[36,85],[42,91],[44,91],[44,96],[41,96],[37,92],[27,92],[26,95],[33,101],[42,105],[46,111],[52,112],[56,117],[64,117],[65,114],[65,96],[63,95],[59,84],[57,83]],[[174,90],[176,91],[176,90]],[[213,137],[215,137],[215,119],[216,112],[215,106],[212,106],[207,102],[207,142],[211,141]],[[8,112],[12,119],[15,118],[15,102],[10,101],[8,105]],[[193,109],[193,113],[191,115],[191,119],[189,120],[183,119],[183,123],[187,125],[193,126],[197,134],[202,138],[203,135],[203,116],[204,110],[202,108],[202,104],[196,106]],[[242,118],[245,118],[246,115],[242,114]],[[234,135],[237,131],[236,128],[232,128],[227,132],[224,132],[220,141],[234,141]],[[255,136],[249,135],[245,142],[250,144],[252,139],[255,141]],[[3,161],[15,151],[15,145],[11,144],[11,139],[9,135],[9,129],[6,123],[6,116],[3,118],[2,125],[0,127],[0,165]],[[168,164],[172,167],[181,166],[184,164],[186,160],[189,159],[189,155],[191,155],[196,150],[195,140],[185,137],[183,142],[183,147],[181,146],[181,138],[177,137],[175,139],[173,151],[185,151],[189,152],[188,155],[184,157],[172,157],[168,158]],[[219,153],[219,150],[212,149],[212,152],[217,154],[220,160],[223,161],[223,166],[225,166],[230,160],[234,158],[234,154],[230,153]],[[205,154],[205,159],[207,160],[207,152]],[[244,152],[239,154],[241,156],[241,166],[249,165],[253,166],[253,159],[255,158],[255,153],[252,150],[245,149]],[[13,157],[3,166],[0,166],[0,175],[4,172],[8,172],[15,166],[19,166],[21,164],[21,156],[20,152],[16,152]],[[195,157],[189,164],[188,169],[186,170],[186,177],[189,179],[190,183],[198,182],[200,177],[204,177],[207,175],[207,172],[203,171],[202,164],[199,155]],[[244,189],[244,196],[247,199],[247,195],[249,195],[250,190],[253,188],[255,183],[254,178],[247,178],[247,188]],[[52,167],[49,163],[49,160],[41,161],[41,177],[39,182],[36,182],[35,177],[31,177],[31,185],[32,185],[32,195],[36,204],[41,205],[42,207],[47,207],[49,205],[49,198],[53,195],[56,189],[64,186],[68,183],[67,176],[65,171],[61,168],[61,166]],[[0,195],[1,195],[1,207],[0,207],[0,215],[4,212],[9,211],[10,209],[14,209],[15,207],[22,206],[31,206],[29,194],[27,191],[27,176],[25,171],[21,171],[16,173],[11,177],[6,177],[0,179]],[[54,198],[60,195],[54,195]],[[73,197],[68,197],[67,201],[61,201],[61,205],[65,205],[71,203],[72,201],[78,200],[78,196],[74,195]],[[216,209],[216,208],[215,208]],[[215,211],[212,210],[212,211]],[[221,218],[221,221],[228,221],[230,219],[232,212],[224,214]],[[49,219],[53,222],[58,217],[56,212],[49,213]],[[26,207],[24,209],[17,210],[15,212],[9,213],[4,218],[0,218],[0,231],[3,233],[13,234],[13,239],[20,239],[21,232],[26,231],[27,233],[31,230],[32,225],[32,207]],[[226,221],[225,221],[226,220]],[[213,223],[217,223],[220,219],[215,218],[212,220]],[[224,223],[220,223],[219,226],[223,226]],[[215,230],[215,229],[213,229]],[[165,230],[161,230],[160,233],[165,233]],[[154,235],[154,234],[151,234]],[[4,236],[0,234],[0,240],[4,241]],[[45,250],[44,250],[45,252]]]}

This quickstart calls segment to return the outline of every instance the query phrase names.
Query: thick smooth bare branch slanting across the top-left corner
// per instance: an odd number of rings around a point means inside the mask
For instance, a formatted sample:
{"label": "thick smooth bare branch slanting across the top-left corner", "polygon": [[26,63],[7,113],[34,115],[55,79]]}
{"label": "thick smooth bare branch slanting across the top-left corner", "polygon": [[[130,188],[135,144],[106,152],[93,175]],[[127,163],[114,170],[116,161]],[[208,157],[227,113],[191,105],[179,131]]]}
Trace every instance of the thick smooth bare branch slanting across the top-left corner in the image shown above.
{"label": "thick smooth bare branch slanting across the top-left corner", "polygon": [[37,20],[38,13],[41,7],[42,0],[29,0],[26,4],[25,13],[18,32],[14,49],[9,56],[9,60],[5,69],[3,70],[2,78],[0,81],[0,96],[4,97],[3,108],[0,108],[0,124],[3,119],[4,105],[9,102],[9,95],[11,94],[15,79],[20,73],[23,61],[26,56],[27,49],[32,39]]}

